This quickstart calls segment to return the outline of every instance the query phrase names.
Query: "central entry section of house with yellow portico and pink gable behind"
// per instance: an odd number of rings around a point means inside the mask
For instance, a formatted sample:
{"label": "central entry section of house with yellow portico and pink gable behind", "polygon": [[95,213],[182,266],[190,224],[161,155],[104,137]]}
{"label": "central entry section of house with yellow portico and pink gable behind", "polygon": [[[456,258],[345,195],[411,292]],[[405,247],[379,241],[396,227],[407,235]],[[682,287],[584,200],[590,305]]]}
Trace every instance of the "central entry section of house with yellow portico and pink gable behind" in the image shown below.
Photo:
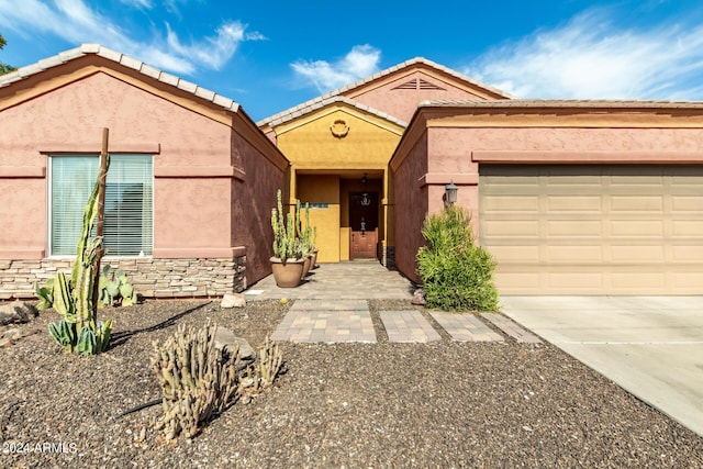
{"label": "central entry section of house with yellow portico and pink gable behind", "polygon": [[398,185],[389,161],[417,104],[509,98],[419,57],[272,115],[259,126],[291,161],[289,203],[300,200],[312,208],[317,259],[376,258],[391,267],[395,243],[410,234],[395,231]]}

